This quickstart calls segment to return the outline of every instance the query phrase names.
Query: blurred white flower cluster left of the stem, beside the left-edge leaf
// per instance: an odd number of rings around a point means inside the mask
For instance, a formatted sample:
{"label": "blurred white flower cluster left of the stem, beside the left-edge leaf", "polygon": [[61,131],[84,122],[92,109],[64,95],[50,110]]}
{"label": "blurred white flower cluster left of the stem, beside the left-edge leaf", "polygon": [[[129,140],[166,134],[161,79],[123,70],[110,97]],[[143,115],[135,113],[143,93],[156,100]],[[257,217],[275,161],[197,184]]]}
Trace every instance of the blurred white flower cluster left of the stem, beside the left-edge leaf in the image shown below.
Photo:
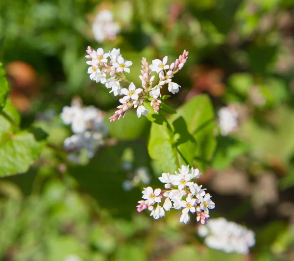
{"label": "blurred white flower cluster left of the stem, beside the left-edge leaf", "polygon": [[73,131],[73,135],[64,140],[65,150],[71,151],[69,160],[79,163],[82,149],[86,150],[88,158],[92,158],[108,131],[103,113],[94,106],[81,107],[79,102],[73,101],[71,107],[63,107],[60,117],[65,124],[71,124]]}

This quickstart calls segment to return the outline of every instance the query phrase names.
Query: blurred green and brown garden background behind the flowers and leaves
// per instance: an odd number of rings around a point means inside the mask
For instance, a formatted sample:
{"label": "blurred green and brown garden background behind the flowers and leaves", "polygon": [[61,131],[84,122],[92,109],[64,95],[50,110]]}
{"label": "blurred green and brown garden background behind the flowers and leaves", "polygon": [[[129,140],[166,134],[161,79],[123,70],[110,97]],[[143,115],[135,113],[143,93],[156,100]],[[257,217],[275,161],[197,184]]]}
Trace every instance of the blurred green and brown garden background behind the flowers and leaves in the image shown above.
{"label": "blurred green and brown garden background behind the flowers and leaves", "polygon": [[[1,0],[2,36],[21,126],[42,127],[49,145],[27,173],[0,179],[0,260],[294,260],[293,0]],[[211,217],[255,232],[250,254],[204,246],[195,218],[184,225],[177,212],[160,220],[136,212],[142,188],[158,186],[162,172],[147,153],[150,123],[135,111],[108,122],[118,97],[89,79],[89,45],[120,48],[138,86],[142,57],[170,63],[187,49],[169,105],[206,93],[216,122],[221,107],[236,108],[237,130],[216,132],[213,157],[196,167],[216,203]],[[78,165],[66,160],[71,130],[60,119],[77,96],[109,126],[106,145]]]}

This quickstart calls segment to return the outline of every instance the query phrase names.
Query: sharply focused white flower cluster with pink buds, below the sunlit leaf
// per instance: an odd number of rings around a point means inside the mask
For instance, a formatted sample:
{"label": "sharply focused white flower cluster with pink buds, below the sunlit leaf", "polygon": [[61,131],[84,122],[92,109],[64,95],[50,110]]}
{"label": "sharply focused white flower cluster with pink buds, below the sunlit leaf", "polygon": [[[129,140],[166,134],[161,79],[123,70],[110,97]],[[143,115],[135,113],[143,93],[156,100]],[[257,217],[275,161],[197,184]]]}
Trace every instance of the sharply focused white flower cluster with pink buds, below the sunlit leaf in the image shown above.
{"label": "sharply focused white flower cluster with pink buds, below the sunlit leaf", "polygon": [[[209,210],[214,209],[215,203],[210,199],[206,189],[202,189],[202,185],[193,182],[193,179],[199,178],[201,173],[199,170],[190,169],[189,166],[179,168],[179,173],[175,174],[162,173],[159,177],[160,182],[165,183],[165,189],[153,190],[151,187],[144,188],[143,200],[140,200],[137,211],[141,212],[145,209],[151,211],[150,216],[155,219],[163,217],[165,211],[170,209],[182,210],[180,222],[185,224],[190,220],[189,212],[196,213],[196,220],[201,224],[206,224],[209,218]],[[165,198],[163,202],[163,198]],[[163,202],[163,206],[159,203]],[[156,205],[156,207],[154,206]]]}

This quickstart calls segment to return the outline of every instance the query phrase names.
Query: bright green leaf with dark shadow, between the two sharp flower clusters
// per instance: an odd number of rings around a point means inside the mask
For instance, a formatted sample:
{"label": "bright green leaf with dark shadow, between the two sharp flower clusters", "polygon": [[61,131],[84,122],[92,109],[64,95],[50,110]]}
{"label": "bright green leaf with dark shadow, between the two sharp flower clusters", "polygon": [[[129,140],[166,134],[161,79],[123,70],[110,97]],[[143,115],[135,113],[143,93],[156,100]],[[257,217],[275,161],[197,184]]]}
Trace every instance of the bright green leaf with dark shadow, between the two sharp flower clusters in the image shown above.
{"label": "bright green leaf with dark shadow, between the two sharp flower clusters", "polygon": [[181,165],[194,166],[194,162],[200,169],[208,166],[216,146],[214,112],[208,96],[186,102],[162,124],[152,123],[148,152],[163,171],[173,173]]}

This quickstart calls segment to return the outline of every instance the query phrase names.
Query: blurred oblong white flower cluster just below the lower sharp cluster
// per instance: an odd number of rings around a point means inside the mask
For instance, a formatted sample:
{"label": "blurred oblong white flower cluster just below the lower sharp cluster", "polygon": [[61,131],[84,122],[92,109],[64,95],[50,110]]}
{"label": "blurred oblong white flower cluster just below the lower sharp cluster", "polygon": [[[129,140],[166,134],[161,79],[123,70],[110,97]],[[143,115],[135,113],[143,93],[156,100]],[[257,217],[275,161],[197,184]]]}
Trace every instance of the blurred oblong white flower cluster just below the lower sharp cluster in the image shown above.
{"label": "blurred oblong white flower cluster just below the lower sharp cluster", "polygon": [[223,217],[211,219],[207,225],[199,226],[198,234],[205,237],[204,243],[208,247],[226,253],[247,254],[249,248],[255,244],[254,233],[251,230]]}

